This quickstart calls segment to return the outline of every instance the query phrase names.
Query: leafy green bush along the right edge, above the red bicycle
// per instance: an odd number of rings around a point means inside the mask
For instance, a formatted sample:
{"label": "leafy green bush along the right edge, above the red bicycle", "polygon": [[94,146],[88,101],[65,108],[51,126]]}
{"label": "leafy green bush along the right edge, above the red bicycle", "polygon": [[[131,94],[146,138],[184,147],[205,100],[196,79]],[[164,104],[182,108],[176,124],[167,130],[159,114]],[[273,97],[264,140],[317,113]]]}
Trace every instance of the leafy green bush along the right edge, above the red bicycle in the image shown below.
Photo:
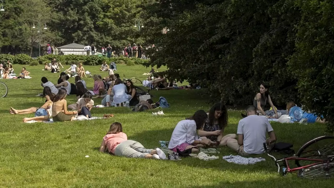
{"label": "leafy green bush along the right edge, above the red bicycle", "polygon": [[334,130],[334,3],[330,0],[298,0],[302,19],[298,29],[296,52],[289,70],[298,79],[300,102],[307,110],[323,115]]}

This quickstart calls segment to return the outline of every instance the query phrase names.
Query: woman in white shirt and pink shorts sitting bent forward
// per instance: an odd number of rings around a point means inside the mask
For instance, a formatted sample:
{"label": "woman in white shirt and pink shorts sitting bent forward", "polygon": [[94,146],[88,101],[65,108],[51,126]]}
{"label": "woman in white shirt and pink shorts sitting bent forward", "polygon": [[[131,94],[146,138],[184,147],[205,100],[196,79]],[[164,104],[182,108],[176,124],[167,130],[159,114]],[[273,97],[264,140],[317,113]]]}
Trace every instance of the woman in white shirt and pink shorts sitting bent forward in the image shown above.
{"label": "woman in white shirt and pink shorts sitting bent forward", "polygon": [[203,138],[198,139],[197,130],[202,128],[208,115],[204,110],[198,110],[193,116],[177,123],[172,137],[169,141],[168,148],[173,152],[183,152],[191,149],[191,153],[198,153],[198,147],[203,145],[209,146],[211,141]]}

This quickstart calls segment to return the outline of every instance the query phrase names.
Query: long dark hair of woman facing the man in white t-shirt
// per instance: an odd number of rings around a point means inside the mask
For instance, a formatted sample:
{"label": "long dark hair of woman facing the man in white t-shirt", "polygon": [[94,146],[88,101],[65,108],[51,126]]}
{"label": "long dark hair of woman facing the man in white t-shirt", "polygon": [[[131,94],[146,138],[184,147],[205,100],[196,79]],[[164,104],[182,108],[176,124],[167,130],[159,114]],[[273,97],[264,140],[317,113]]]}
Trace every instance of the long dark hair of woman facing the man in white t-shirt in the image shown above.
{"label": "long dark hair of woman facing the man in white t-shirt", "polygon": [[215,111],[219,111],[219,110],[221,110],[222,113],[217,120],[218,120],[219,128],[222,129],[222,128],[227,126],[227,118],[228,118],[227,117],[227,109],[226,109],[226,106],[223,103],[216,103],[211,107],[211,109],[209,111],[208,124],[209,124],[209,126],[213,125],[214,120],[215,120],[215,118],[214,118],[214,115],[216,113]]}

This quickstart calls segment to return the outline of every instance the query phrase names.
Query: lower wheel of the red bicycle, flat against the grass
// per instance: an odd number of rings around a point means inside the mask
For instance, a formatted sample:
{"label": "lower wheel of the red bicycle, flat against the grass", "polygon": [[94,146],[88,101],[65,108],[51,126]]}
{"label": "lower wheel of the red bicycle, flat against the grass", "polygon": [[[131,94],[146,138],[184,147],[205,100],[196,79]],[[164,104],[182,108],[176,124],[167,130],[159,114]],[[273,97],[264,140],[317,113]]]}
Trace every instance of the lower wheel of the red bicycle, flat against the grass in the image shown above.
{"label": "lower wheel of the red bicycle, flat against the grass", "polygon": [[307,179],[329,179],[334,177],[334,163],[324,163],[301,169],[298,176]]}

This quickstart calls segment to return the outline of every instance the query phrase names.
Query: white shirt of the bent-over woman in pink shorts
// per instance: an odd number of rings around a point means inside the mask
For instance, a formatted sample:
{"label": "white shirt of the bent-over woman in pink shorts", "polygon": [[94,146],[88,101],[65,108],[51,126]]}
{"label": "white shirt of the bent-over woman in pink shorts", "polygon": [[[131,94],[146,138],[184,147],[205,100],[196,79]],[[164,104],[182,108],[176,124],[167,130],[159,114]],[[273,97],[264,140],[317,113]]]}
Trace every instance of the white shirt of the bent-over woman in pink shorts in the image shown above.
{"label": "white shirt of the bent-over woman in pink shorts", "polygon": [[195,120],[182,120],[174,128],[168,148],[173,149],[183,143],[192,144],[195,140],[198,140]]}

